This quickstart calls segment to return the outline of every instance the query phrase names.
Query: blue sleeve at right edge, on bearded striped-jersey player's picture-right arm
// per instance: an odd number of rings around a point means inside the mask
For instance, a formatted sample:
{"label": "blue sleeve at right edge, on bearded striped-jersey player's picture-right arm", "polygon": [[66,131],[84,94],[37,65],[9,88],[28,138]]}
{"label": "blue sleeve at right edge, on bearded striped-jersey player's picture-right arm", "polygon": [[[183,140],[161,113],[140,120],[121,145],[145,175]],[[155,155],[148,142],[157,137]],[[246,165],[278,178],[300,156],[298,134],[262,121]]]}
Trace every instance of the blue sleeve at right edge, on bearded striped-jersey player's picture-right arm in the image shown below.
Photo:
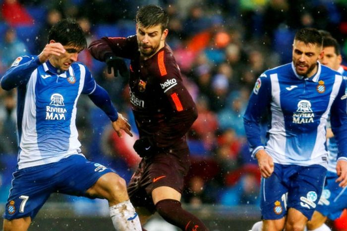
{"label": "blue sleeve at right edge, on bearded striped-jersey player's picture-right arm", "polygon": [[347,160],[347,100],[346,82],[342,80],[339,93],[330,109],[330,123],[338,144],[338,159]]}

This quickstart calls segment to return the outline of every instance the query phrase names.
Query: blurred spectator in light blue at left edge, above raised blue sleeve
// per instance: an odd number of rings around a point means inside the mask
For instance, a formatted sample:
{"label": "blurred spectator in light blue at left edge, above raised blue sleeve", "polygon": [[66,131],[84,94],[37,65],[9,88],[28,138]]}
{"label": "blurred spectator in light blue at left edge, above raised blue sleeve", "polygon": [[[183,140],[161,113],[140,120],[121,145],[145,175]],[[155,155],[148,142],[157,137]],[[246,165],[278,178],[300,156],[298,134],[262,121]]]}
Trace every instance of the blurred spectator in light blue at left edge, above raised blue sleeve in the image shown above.
{"label": "blurred spectator in light blue at left edge, above raised blue sleeve", "polygon": [[16,31],[13,28],[6,30],[0,47],[1,63],[6,69],[11,66],[17,57],[26,55],[29,52],[25,44],[17,38]]}

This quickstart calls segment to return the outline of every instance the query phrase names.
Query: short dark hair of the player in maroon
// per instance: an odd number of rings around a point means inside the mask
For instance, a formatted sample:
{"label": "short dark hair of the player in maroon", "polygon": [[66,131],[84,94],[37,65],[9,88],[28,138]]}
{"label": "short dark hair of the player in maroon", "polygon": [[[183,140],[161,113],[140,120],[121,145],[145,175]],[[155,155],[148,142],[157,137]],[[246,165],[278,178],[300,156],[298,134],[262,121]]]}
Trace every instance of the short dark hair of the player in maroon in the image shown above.
{"label": "short dark hair of the player in maroon", "polygon": [[168,28],[169,16],[165,10],[158,5],[142,6],[136,13],[136,23],[144,27],[161,25],[164,31]]}

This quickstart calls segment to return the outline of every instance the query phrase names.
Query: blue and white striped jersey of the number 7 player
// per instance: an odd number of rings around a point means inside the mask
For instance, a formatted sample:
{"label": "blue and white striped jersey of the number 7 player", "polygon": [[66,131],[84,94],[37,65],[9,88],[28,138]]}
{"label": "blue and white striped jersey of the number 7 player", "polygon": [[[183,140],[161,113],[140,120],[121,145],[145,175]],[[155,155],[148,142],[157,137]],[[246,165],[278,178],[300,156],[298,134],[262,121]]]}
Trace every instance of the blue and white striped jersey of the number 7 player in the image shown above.
{"label": "blue and white striped jersey of the number 7 player", "polygon": [[19,169],[80,154],[77,99],[97,86],[83,64],[72,63],[68,71],[59,73],[50,62],[41,64],[38,56],[22,56],[1,78],[1,86],[18,91]]}

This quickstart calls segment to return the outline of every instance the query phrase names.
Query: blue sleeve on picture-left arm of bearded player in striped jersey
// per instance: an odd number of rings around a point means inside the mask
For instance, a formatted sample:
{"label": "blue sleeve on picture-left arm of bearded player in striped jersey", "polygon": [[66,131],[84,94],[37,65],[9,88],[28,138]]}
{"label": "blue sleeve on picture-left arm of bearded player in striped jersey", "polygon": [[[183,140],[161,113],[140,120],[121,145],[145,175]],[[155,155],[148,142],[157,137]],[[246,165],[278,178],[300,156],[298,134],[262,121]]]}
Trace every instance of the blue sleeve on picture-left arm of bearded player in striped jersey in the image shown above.
{"label": "blue sleeve on picture-left arm of bearded player in striped jersey", "polygon": [[[262,74],[262,76],[266,76]],[[249,98],[248,105],[243,116],[243,124],[247,136],[249,151],[254,155],[264,149],[261,142],[260,121],[269,108],[271,102],[271,80],[270,77],[259,77]]]}

